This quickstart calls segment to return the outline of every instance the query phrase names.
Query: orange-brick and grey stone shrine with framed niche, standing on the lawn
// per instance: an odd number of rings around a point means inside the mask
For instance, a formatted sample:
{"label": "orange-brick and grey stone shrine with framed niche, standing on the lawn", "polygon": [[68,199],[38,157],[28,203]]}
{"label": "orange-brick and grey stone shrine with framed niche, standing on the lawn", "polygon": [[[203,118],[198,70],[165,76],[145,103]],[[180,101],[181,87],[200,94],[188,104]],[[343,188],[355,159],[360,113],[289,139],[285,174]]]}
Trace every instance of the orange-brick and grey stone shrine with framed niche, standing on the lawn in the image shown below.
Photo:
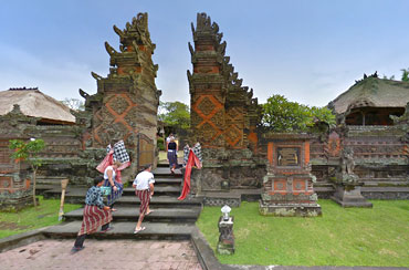
{"label": "orange-brick and grey stone shrine with framed niche, standing on the lawn", "polygon": [[260,214],[280,217],[321,216],[313,190],[310,137],[305,134],[264,134],[268,174],[263,180]]}

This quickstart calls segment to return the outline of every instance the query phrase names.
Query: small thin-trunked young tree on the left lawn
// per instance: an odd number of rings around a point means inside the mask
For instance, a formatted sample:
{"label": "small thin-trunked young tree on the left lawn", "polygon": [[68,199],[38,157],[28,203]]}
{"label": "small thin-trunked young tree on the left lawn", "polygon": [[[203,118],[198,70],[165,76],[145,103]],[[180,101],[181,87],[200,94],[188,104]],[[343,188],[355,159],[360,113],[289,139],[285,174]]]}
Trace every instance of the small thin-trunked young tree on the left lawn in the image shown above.
{"label": "small thin-trunked young tree on the left lawn", "polygon": [[31,166],[33,172],[33,202],[34,207],[36,207],[35,200],[35,178],[36,178],[36,170],[41,167],[42,163],[41,159],[38,158],[38,154],[45,147],[45,143],[43,139],[35,139],[31,138],[29,142],[23,142],[21,139],[11,139],[9,148],[14,149],[14,153],[11,154],[11,157],[14,158],[17,163],[19,162],[28,162]]}

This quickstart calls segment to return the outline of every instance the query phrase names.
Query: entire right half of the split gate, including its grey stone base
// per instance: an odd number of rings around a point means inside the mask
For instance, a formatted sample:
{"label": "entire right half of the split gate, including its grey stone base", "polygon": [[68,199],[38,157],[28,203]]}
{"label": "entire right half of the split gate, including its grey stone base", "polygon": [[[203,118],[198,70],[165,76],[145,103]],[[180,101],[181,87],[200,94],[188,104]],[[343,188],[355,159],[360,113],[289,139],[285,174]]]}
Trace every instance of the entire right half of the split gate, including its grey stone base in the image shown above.
{"label": "entire right half of the split gate, including its grey stone base", "polygon": [[252,98],[253,90],[241,86],[242,80],[224,55],[227,43],[221,42],[219,25],[206,13],[198,13],[197,27],[191,28],[191,141],[199,142],[203,150],[203,169],[195,176],[198,188],[258,187],[262,177],[249,175],[250,167],[258,166],[253,157],[260,111],[256,98]]}

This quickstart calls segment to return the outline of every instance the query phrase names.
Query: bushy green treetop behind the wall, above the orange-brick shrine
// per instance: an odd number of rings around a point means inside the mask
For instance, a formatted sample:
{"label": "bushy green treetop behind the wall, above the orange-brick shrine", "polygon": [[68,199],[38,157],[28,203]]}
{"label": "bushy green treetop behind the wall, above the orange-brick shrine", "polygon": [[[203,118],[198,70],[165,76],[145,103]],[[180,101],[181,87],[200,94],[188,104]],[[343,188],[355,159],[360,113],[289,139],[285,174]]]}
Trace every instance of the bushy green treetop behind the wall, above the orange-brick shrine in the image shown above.
{"label": "bushy green treetop behind the wall, above the orange-brick shrine", "polygon": [[327,107],[310,107],[273,95],[262,107],[262,124],[274,132],[307,132],[317,122],[335,124],[335,115]]}

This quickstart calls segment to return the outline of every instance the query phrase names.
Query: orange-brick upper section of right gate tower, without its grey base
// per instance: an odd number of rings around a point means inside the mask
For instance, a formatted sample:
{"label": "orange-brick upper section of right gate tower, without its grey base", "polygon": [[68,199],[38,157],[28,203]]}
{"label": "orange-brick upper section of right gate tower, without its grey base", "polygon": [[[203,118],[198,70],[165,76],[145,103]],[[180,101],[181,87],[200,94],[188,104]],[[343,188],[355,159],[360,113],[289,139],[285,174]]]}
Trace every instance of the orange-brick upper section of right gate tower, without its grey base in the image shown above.
{"label": "orange-brick upper section of right gate tower, without its grey base", "polygon": [[248,148],[256,143],[258,101],[224,56],[226,41],[216,22],[198,13],[189,43],[193,73],[188,71],[192,138],[203,148]]}

